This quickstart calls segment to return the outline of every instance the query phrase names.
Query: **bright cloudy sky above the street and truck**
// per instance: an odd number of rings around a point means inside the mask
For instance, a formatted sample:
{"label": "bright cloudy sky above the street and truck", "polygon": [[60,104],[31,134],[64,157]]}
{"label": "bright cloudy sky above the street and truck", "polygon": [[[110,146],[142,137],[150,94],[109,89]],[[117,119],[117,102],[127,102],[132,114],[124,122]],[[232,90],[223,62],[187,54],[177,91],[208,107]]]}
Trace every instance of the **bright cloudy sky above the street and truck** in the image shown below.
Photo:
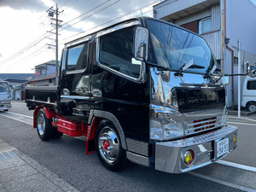
{"label": "bright cloudy sky above the street and truck", "polygon": [[35,73],[34,67],[55,60],[55,27],[46,12],[61,12],[59,59],[67,42],[121,20],[152,16],[160,0],[0,0],[0,73]]}

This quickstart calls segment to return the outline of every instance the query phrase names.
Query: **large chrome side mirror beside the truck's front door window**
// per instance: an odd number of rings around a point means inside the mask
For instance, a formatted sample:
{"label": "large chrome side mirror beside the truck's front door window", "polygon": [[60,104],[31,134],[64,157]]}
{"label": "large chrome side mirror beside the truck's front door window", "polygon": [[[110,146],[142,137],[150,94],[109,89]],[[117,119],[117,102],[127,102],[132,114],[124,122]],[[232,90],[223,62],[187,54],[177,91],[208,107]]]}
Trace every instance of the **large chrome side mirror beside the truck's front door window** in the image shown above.
{"label": "large chrome side mirror beside the truck's front door window", "polygon": [[[134,37],[134,57],[138,61],[148,59],[148,29],[143,26],[137,26]],[[145,58],[144,58],[145,57]]]}

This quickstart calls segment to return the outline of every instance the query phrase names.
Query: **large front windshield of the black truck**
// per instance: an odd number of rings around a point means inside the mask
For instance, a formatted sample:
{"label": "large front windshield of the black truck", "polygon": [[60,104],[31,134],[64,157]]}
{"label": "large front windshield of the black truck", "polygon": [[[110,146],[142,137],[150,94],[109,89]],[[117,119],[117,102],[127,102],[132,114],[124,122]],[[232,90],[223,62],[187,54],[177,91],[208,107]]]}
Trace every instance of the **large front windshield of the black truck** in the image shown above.
{"label": "large front windshield of the black truck", "polygon": [[[156,20],[147,20],[157,64],[172,70],[220,75],[218,62],[206,41],[194,33]],[[215,68],[215,67],[214,67]]]}

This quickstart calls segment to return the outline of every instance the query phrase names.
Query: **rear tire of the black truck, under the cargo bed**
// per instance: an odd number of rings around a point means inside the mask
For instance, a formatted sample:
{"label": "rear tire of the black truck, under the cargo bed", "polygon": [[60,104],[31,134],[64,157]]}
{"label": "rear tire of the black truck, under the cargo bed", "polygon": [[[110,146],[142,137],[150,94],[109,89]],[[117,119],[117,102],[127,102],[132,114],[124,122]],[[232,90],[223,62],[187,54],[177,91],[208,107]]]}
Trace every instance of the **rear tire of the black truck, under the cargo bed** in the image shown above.
{"label": "rear tire of the black truck, under the cargo bed", "polygon": [[51,125],[51,119],[47,119],[43,108],[39,110],[37,115],[37,131],[38,137],[43,141],[49,140],[54,134],[54,127]]}

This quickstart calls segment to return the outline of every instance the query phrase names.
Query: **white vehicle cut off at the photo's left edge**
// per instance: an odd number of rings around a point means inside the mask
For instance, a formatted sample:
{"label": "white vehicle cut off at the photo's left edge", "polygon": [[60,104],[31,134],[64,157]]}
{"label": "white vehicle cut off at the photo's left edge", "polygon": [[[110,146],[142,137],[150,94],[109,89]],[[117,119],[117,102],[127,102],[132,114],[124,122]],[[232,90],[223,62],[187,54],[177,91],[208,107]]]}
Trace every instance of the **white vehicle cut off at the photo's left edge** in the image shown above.
{"label": "white vehicle cut off at the photo's left edge", "polygon": [[12,108],[11,91],[7,81],[0,81],[0,110],[8,111]]}

